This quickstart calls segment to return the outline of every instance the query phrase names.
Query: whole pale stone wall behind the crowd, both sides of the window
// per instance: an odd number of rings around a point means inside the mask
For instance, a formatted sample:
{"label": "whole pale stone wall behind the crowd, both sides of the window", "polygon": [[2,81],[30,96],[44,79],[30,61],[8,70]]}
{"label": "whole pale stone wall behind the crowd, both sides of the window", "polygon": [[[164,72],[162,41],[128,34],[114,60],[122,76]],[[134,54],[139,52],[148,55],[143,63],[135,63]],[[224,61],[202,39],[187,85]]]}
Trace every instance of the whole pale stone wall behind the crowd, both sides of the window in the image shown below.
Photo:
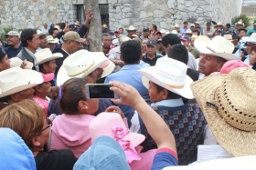
{"label": "whole pale stone wall behind the crowd, both sides of the window", "polygon": [[[155,24],[159,29],[171,31],[172,25],[198,21],[205,25],[210,17],[218,22],[230,23],[238,15],[241,0],[99,0],[109,4],[111,29],[138,29]],[[1,26],[12,25],[16,29],[41,27],[43,23],[59,23],[77,20],[76,5],[83,0],[1,0]]]}

